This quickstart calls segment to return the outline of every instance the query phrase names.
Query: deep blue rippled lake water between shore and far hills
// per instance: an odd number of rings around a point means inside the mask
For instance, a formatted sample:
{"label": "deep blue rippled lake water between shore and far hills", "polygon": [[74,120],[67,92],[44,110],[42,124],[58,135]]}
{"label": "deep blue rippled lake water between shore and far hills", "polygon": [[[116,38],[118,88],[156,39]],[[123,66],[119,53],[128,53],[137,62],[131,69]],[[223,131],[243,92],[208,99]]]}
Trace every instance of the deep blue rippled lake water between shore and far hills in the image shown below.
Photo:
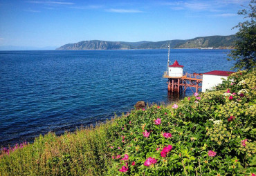
{"label": "deep blue rippled lake water between shore and far hills", "polygon": [[[230,70],[229,50],[171,50],[185,72]],[[75,130],[137,101],[170,103],[167,50],[1,51],[0,146]],[[188,92],[190,93],[190,92]]]}

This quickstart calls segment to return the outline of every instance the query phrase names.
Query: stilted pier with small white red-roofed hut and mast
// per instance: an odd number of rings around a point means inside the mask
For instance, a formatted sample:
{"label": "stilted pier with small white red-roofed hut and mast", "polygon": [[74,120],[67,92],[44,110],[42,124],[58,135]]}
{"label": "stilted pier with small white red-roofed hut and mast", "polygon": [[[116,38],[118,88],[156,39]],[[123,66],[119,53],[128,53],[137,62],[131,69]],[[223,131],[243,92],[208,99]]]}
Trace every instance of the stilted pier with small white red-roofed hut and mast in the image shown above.
{"label": "stilted pier with small white red-roofed hut and mast", "polygon": [[[163,75],[163,78],[167,78],[168,91],[169,92],[183,92],[190,88],[192,92],[198,93],[199,88],[202,88],[203,76],[199,73],[183,74],[183,67],[179,65],[178,61],[174,61],[172,65],[170,63],[170,46],[168,52],[167,70]],[[193,89],[194,88],[194,89]]]}

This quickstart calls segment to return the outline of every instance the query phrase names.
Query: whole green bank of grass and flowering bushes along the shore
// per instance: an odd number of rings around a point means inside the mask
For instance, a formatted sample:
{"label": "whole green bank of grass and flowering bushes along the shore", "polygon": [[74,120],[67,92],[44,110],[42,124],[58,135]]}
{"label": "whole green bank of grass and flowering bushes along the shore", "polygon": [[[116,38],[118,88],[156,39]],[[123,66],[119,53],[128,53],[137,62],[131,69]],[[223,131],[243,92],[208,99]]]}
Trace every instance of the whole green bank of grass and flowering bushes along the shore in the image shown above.
{"label": "whole green bank of grass and flowering bushes along the shore", "polygon": [[256,72],[171,106],[2,150],[0,175],[253,175]]}

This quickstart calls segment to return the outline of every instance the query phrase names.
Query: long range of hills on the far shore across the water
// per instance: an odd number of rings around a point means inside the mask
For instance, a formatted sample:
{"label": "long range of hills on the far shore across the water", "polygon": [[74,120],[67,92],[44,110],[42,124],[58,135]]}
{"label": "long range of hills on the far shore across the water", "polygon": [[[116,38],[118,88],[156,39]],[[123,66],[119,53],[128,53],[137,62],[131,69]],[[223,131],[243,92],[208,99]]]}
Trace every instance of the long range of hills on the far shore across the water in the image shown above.
{"label": "long range of hills on the far shore across the water", "polygon": [[167,41],[80,41],[68,43],[56,50],[129,50],[129,49],[163,49],[168,48],[233,48],[235,35],[196,37],[187,40]]}

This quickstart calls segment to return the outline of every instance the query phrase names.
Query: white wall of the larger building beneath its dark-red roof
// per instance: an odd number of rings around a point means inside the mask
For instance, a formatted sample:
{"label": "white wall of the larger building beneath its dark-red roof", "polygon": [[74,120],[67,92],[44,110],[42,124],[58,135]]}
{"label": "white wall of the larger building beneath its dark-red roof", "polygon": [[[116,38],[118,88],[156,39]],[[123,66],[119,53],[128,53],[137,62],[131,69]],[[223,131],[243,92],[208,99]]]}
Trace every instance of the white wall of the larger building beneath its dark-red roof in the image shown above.
{"label": "white wall of the larger building beneath its dark-red roof", "polygon": [[228,77],[217,75],[203,75],[202,92],[205,92],[205,90],[210,90],[218,84],[221,84],[221,78],[227,79]]}

